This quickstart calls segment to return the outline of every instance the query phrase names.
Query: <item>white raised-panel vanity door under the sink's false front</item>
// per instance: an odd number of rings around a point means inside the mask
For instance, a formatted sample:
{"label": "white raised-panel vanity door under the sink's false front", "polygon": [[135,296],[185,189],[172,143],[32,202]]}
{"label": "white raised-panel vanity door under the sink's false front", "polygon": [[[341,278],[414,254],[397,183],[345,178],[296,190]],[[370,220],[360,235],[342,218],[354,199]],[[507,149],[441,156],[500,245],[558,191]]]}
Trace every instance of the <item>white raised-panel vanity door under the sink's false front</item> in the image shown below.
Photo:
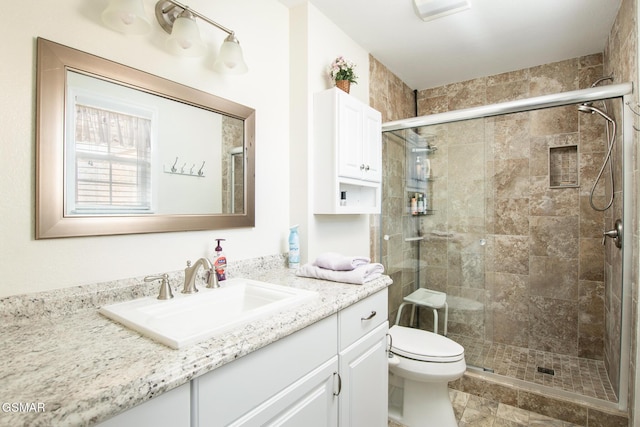
{"label": "white raised-panel vanity door under the sink's false front", "polygon": [[338,357],[305,375],[229,427],[335,427]]}

